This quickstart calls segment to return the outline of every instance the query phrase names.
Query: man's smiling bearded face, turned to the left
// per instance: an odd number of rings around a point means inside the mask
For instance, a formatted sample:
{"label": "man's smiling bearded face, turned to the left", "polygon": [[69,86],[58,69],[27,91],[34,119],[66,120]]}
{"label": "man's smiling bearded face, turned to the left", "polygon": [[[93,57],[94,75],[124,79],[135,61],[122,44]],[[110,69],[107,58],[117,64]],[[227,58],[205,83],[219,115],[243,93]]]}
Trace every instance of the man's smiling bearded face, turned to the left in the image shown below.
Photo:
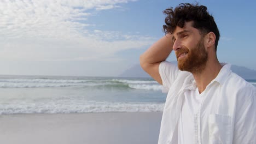
{"label": "man's smiling bearded face, turned to the left", "polygon": [[208,53],[203,45],[203,37],[191,25],[191,22],[186,22],[183,28],[176,28],[173,33],[173,50],[180,70],[200,73],[206,67]]}

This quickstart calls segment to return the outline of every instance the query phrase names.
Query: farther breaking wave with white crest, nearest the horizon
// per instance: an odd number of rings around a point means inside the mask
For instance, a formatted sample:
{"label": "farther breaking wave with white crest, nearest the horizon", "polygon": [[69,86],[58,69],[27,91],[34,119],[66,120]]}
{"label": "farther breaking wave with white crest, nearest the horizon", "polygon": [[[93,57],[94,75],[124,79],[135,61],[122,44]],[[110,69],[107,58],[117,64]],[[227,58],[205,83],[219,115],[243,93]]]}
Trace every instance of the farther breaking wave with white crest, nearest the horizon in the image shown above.
{"label": "farther breaking wave with white crest, nearest the horizon", "polygon": [[0,88],[85,87],[98,89],[146,89],[160,91],[153,80],[68,80],[68,79],[0,79]]}

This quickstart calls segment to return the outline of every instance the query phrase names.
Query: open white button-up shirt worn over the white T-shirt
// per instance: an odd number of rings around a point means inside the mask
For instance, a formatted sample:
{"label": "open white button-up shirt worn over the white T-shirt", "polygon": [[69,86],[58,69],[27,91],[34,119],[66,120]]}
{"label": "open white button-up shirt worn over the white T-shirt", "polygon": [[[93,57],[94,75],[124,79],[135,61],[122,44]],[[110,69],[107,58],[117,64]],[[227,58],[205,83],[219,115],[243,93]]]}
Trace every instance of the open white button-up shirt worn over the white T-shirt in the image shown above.
{"label": "open white button-up shirt worn over the white T-shirt", "polygon": [[[177,144],[185,93],[195,91],[196,83],[191,73],[166,61],[159,73],[168,94],[158,143]],[[189,143],[256,143],[256,88],[251,83],[225,64],[202,94],[193,116],[194,142]]]}

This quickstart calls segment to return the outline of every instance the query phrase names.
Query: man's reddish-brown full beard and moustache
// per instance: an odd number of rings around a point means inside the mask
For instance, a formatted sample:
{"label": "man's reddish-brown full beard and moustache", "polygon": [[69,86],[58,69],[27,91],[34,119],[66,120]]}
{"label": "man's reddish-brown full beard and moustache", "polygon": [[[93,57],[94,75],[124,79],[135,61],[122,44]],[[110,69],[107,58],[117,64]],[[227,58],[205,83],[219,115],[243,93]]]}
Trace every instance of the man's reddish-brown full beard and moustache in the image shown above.
{"label": "man's reddish-brown full beard and moustache", "polygon": [[180,70],[198,74],[205,69],[208,53],[203,45],[203,39],[201,39],[195,47],[192,47],[190,51],[187,47],[183,47],[182,49],[178,50],[176,52],[176,56],[179,56],[180,53],[187,53],[187,56],[181,59],[178,59],[177,57],[178,68]]}

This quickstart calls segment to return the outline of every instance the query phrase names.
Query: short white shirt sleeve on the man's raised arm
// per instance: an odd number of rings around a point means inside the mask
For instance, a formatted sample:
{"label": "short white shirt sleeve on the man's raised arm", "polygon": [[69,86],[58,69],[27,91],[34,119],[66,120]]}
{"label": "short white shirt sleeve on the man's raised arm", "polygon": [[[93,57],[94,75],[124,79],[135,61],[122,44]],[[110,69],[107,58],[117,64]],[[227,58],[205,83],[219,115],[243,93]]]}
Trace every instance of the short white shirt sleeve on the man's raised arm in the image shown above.
{"label": "short white shirt sleeve on the man's raised arm", "polygon": [[162,92],[167,93],[178,75],[177,65],[163,61],[159,65],[159,74],[162,79]]}

